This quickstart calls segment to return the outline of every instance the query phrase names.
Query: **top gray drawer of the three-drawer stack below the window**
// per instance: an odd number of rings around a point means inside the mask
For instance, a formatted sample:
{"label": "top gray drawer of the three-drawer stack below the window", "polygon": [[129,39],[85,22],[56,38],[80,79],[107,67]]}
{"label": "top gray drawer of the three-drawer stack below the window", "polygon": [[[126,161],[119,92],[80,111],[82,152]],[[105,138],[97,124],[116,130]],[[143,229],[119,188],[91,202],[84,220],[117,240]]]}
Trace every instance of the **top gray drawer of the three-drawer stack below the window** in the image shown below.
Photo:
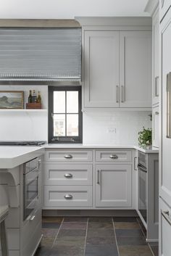
{"label": "top gray drawer of the three-drawer stack below the window", "polygon": [[45,161],[92,161],[92,151],[84,150],[47,150],[45,152]]}

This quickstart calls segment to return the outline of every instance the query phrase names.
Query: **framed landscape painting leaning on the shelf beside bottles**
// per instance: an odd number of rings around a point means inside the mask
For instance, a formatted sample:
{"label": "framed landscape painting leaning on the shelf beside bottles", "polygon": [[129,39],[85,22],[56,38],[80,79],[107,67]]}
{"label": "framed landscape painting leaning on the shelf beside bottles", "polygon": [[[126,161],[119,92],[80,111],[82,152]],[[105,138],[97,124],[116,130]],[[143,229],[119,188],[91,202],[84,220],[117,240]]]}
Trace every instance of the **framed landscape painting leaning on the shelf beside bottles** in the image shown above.
{"label": "framed landscape painting leaning on the shelf beside bottles", "polygon": [[24,91],[0,91],[0,109],[23,109]]}

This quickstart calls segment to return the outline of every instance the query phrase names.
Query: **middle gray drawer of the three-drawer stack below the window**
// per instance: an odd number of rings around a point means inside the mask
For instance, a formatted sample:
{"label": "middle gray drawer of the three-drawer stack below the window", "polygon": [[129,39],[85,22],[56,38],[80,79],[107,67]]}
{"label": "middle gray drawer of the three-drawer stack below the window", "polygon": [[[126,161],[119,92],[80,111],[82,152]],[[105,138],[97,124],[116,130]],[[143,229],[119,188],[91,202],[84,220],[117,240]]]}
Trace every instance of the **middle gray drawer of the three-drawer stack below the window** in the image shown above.
{"label": "middle gray drawer of the three-drawer stack below the window", "polygon": [[45,185],[92,185],[92,165],[45,165]]}

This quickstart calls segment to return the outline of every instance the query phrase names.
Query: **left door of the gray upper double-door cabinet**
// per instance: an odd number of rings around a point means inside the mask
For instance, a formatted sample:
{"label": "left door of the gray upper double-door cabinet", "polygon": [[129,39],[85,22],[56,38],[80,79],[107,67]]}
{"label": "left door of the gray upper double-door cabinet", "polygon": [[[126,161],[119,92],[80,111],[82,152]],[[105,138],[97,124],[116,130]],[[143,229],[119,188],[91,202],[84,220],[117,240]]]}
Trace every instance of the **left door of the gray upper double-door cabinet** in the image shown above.
{"label": "left door of the gray upper double-door cabinet", "polygon": [[119,107],[119,32],[85,31],[84,107]]}

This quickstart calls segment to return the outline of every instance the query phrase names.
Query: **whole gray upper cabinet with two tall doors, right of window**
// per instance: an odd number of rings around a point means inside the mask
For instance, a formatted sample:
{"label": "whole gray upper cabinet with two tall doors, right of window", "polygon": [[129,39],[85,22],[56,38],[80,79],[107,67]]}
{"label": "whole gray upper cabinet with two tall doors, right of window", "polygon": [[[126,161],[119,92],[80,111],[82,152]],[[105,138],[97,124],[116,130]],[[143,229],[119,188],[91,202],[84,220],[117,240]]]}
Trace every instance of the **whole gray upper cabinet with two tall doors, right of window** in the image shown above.
{"label": "whole gray upper cabinet with two tall doors, right of window", "polygon": [[83,108],[151,107],[151,31],[88,28],[83,28]]}

